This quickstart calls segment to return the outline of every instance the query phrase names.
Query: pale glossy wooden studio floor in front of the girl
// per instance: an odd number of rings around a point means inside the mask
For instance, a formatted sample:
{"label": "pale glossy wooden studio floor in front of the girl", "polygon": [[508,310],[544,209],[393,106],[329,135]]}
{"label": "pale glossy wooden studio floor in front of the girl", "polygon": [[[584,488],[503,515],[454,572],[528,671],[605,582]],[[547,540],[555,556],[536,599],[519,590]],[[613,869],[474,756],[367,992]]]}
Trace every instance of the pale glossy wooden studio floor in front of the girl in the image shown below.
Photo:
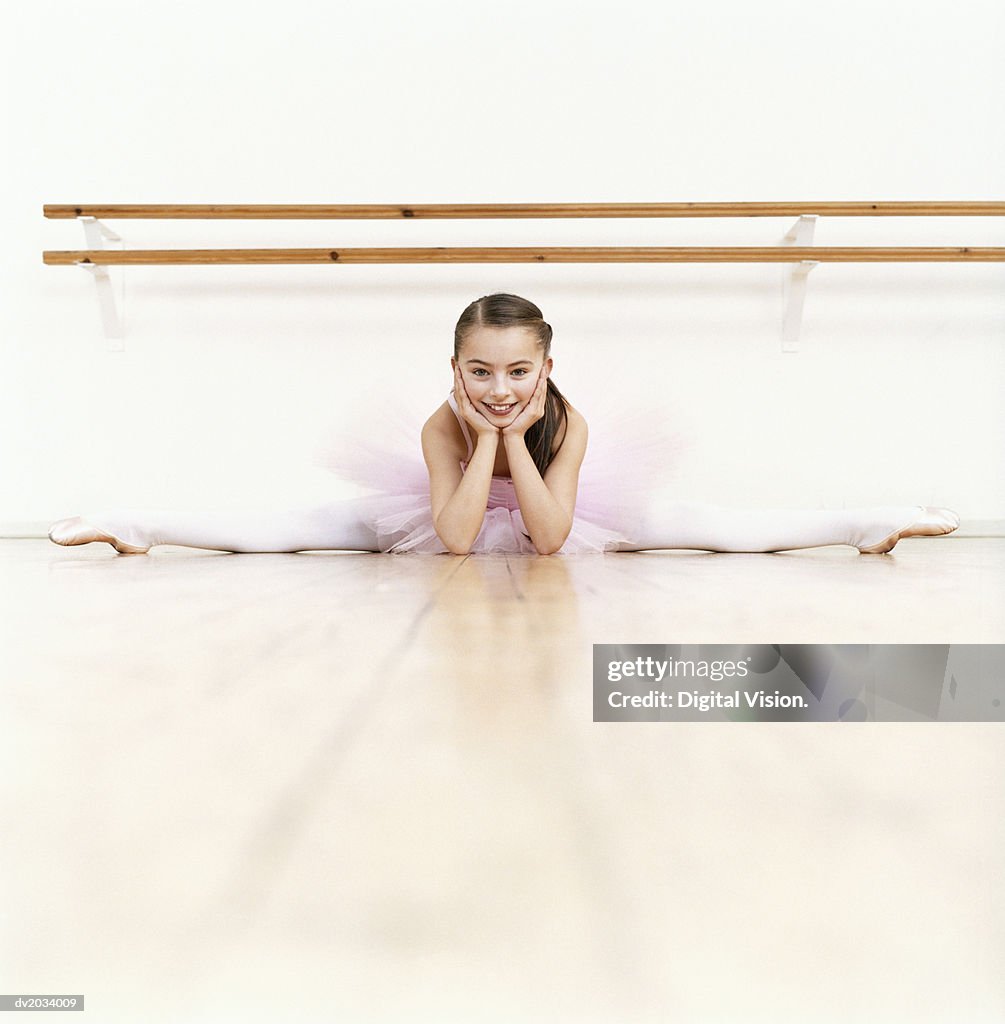
{"label": "pale glossy wooden studio floor in front of the girl", "polygon": [[593,643],[1005,642],[1005,541],[0,542],[0,990],[104,1021],[1005,1020],[1000,725],[594,724]]}

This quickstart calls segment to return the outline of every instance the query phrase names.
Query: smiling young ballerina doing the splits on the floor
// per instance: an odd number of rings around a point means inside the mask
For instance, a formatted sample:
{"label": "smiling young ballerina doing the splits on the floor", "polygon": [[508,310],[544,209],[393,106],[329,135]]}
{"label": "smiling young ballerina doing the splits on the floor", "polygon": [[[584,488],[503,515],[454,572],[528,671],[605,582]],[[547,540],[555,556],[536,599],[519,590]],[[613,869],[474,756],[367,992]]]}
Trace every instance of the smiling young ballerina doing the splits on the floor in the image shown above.
{"label": "smiling young ballerina doing the splits on the floor", "polygon": [[419,473],[373,460],[363,474],[373,496],[278,513],[112,509],[62,519],[49,539],[104,541],[120,554],[144,554],[157,544],[542,555],[846,544],[882,554],[903,537],[950,534],[959,525],[949,509],[917,505],[750,511],[679,502],[646,493],[645,467],[640,471],[630,450],[611,476],[616,487],[598,488],[596,480],[591,487],[580,479],[586,421],[551,380],[550,351],[551,327],[533,302],[485,296],[454,331],[454,387],[422,428]]}

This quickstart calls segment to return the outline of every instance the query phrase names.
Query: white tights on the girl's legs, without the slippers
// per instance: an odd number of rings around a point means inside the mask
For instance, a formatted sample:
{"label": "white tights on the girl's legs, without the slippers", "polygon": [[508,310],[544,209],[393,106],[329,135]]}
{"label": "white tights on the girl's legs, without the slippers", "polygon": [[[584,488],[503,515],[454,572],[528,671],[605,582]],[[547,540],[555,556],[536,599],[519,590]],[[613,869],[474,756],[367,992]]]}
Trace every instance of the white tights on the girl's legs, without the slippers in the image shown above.
{"label": "white tights on the girl's legs, without the slippers", "polygon": [[[690,548],[701,551],[787,551],[830,544],[865,547],[904,529],[923,512],[917,505],[839,510],[738,509],[657,496],[620,551]],[[86,521],[128,544],[214,551],[376,551],[377,538],[353,499],[283,511],[189,512],[111,509]]]}

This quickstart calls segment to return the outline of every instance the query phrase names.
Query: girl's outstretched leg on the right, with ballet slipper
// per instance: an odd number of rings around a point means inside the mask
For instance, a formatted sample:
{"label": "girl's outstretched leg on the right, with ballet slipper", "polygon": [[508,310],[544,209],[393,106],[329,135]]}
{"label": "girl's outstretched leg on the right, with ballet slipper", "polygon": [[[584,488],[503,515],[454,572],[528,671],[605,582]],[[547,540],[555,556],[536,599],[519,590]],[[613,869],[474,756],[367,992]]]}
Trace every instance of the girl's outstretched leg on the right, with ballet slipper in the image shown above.
{"label": "girl's outstretched leg on the right, with ballet slipper", "polygon": [[656,496],[629,530],[621,551],[693,548],[701,551],[789,551],[849,544],[860,551],[889,551],[911,536],[950,534],[959,516],[920,505],[853,509],[734,509]]}

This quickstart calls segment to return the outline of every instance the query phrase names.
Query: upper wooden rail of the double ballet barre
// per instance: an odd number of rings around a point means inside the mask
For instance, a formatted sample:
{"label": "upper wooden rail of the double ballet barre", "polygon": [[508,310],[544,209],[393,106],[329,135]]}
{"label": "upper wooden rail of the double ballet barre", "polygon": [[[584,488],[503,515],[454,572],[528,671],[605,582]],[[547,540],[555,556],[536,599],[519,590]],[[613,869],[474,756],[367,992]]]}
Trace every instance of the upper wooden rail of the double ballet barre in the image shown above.
{"label": "upper wooden rail of the double ballet barre", "polygon": [[47,204],[46,217],[106,220],[442,220],[555,217],[1002,217],[1005,203]]}

